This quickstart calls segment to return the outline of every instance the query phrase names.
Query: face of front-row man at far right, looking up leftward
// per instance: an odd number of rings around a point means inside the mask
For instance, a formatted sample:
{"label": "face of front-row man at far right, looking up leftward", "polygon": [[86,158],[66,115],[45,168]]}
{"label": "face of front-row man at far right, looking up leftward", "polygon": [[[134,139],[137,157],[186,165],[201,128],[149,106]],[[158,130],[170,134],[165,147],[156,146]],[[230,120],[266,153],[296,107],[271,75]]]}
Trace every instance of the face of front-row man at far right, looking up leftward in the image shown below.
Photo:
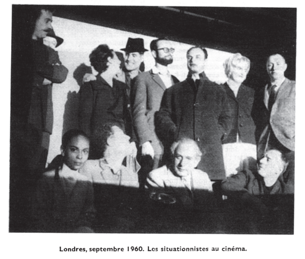
{"label": "face of front-row man at far right, looking up leftward", "polygon": [[269,150],[259,161],[258,173],[264,178],[271,177],[281,174],[284,167],[285,161],[282,159],[282,153],[278,150]]}

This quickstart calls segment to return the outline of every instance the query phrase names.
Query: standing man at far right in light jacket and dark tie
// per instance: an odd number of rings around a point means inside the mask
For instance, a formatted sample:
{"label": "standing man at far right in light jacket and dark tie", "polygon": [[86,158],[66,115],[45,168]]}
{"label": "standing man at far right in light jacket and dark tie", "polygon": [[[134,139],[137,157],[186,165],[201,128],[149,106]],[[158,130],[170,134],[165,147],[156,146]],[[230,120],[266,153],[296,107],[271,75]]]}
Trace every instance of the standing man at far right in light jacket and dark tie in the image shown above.
{"label": "standing man at far right in light jacket and dark tie", "polygon": [[267,72],[270,83],[261,89],[258,96],[260,105],[257,110],[263,113],[258,128],[258,159],[270,148],[283,151],[290,160],[294,158],[295,81],[284,76],[286,69],[283,56],[269,56]]}

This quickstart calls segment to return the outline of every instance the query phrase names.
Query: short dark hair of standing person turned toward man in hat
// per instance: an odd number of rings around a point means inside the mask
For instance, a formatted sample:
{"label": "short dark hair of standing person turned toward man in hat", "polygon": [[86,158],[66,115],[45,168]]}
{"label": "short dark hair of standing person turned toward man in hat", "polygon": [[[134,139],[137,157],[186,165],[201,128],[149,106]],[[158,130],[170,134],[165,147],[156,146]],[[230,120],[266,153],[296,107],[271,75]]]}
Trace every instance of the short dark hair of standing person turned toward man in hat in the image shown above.
{"label": "short dark hair of standing person turned toward man in hat", "polygon": [[103,73],[108,68],[108,57],[113,58],[113,50],[109,49],[106,44],[99,45],[89,55],[91,66],[93,66],[97,72]]}

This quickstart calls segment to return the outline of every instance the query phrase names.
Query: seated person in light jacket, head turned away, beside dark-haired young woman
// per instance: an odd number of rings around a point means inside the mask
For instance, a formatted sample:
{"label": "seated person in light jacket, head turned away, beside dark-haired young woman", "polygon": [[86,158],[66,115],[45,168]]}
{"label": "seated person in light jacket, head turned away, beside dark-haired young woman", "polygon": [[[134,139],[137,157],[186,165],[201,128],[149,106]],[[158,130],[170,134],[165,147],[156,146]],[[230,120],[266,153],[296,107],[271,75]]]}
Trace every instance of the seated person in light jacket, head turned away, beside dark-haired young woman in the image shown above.
{"label": "seated person in light jacket, head turned away, beside dark-haired young woman", "polygon": [[[98,127],[93,148],[100,159],[87,160],[80,173],[93,182],[97,232],[133,231],[138,204],[138,164],[130,163],[130,137],[115,123]],[[127,166],[123,160],[127,157]]]}

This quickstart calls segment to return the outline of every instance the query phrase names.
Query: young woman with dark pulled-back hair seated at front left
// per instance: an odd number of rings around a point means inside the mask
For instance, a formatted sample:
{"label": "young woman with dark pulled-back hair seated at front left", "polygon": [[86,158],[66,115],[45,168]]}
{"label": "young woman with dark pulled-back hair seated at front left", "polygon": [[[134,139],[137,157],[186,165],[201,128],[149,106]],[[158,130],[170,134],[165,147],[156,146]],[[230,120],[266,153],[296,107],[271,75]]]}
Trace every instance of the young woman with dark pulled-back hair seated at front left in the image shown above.
{"label": "young woman with dark pulled-back hair seated at front left", "polygon": [[93,186],[78,172],[88,159],[89,139],[82,131],[70,130],[63,136],[60,150],[59,165],[53,164],[54,169],[49,168],[37,183],[35,232],[93,233]]}

